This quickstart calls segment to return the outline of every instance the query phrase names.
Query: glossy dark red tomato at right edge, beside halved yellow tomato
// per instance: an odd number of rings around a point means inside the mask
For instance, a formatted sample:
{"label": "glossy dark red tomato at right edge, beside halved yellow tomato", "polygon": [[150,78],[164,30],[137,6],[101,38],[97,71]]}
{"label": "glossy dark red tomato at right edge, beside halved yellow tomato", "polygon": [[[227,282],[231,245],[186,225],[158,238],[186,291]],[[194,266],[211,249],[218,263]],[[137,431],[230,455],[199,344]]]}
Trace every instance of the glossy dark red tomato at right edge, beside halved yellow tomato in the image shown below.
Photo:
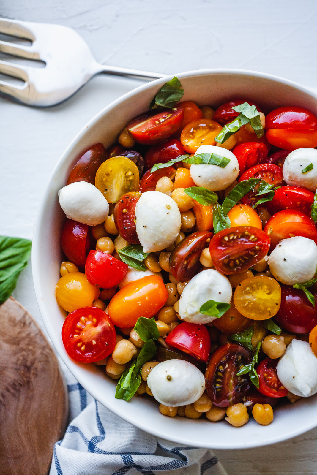
{"label": "glossy dark red tomato at right edge, beside halved yellow tomato", "polygon": [[[281,327],[291,333],[309,333],[317,325],[317,305],[315,308],[307,299],[305,292],[294,289],[289,285],[281,284],[281,306],[274,319]],[[315,300],[317,289],[309,287]]]}

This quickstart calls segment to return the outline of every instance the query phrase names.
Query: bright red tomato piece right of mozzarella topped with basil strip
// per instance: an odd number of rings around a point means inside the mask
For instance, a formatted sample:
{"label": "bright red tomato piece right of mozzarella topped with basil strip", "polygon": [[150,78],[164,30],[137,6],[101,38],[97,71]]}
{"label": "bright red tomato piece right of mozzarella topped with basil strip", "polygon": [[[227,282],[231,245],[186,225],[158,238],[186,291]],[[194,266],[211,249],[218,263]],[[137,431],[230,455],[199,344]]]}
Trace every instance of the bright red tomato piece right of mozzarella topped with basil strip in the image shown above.
{"label": "bright red tomato piece right of mozzarella topped with basil strip", "polygon": [[244,142],[236,145],[232,153],[237,157],[240,175],[247,169],[268,161],[268,147],[262,142]]}

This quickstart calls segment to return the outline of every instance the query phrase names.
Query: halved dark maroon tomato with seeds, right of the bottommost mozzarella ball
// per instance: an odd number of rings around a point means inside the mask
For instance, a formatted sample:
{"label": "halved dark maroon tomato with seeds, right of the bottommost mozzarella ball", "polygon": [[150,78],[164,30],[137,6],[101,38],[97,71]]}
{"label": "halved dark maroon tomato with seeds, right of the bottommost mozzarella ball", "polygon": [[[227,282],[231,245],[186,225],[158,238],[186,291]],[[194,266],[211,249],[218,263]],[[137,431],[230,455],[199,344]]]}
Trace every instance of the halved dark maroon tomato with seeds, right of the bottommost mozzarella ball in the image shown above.
{"label": "halved dark maroon tomato with seeds, right of the bottommost mozzarella ball", "polygon": [[251,359],[250,350],[235,343],[222,345],[211,354],[205,377],[212,404],[226,408],[242,401],[250,389],[250,380],[237,373]]}

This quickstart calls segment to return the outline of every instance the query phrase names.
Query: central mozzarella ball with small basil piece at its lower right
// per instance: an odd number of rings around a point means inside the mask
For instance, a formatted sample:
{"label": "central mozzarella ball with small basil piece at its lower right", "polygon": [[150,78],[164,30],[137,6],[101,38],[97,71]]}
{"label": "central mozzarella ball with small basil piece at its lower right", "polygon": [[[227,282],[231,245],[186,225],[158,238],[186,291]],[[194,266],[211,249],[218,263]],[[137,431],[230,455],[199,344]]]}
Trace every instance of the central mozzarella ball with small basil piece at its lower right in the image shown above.
{"label": "central mozzarella ball with small basil piece at its lower right", "polygon": [[216,317],[201,314],[199,309],[208,300],[230,304],[232,287],[227,279],[215,269],[206,269],[194,276],[184,288],[179,301],[182,320],[191,323],[209,323]]}

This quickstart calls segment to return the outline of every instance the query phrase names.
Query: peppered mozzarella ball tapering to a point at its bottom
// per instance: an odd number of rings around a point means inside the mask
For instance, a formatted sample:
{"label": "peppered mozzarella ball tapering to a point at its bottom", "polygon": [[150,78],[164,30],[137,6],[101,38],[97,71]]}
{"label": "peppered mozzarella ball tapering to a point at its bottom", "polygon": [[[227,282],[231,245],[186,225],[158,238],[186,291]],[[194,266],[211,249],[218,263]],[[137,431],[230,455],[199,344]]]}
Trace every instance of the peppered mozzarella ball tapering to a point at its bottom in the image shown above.
{"label": "peppered mozzarella ball tapering to a point at its bottom", "polygon": [[181,230],[181,213],[175,201],[160,191],[142,193],[135,207],[136,234],[144,252],[165,249]]}

